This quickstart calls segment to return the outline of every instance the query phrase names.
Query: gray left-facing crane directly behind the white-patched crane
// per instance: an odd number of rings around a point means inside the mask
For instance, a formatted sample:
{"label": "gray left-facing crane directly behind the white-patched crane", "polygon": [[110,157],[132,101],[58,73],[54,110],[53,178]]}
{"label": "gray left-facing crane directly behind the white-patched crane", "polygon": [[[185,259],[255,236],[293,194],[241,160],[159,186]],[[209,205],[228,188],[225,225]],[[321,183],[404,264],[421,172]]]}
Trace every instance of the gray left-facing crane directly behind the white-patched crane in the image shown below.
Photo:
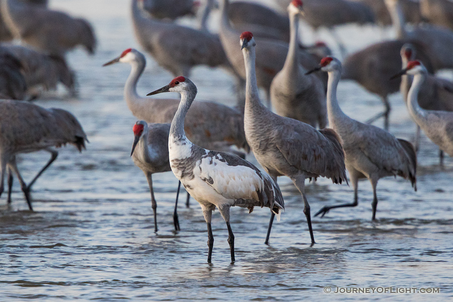
{"label": "gray left-facing crane directly behind the white-patched crane", "polygon": [[[104,66],[118,62],[129,63],[132,67],[124,86],[124,99],[132,114],[148,123],[171,122],[178,109],[178,100],[142,98],[137,94],[137,82],[146,65],[143,54],[129,48]],[[214,102],[196,102],[187,115],[185,125],[189,139],[201,146],[219,148],[236,145],[249,151],[244,116],[239,110]]]}

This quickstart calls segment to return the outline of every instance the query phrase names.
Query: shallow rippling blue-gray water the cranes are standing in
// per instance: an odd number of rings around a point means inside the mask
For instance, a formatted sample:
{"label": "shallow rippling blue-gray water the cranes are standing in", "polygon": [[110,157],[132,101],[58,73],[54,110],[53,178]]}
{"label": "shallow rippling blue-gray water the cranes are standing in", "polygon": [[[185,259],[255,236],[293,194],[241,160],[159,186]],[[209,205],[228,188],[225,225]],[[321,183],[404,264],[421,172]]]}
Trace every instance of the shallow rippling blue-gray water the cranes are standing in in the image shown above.
{"label": "shallow rippling blue-gray water the cranes are standing in", "polygon": [[[74,113],[90,144],[82,154],[71,146],[60,150],[57,161],[33,187],[34,212],[28,211],[17,182],[12,206],[6,205],[3,196],[0,300],[445,301],[453,297],[453,163],[446,158],[445,169],[440,170],[437,148],[425,137],[417,192],[400,178],[382,179],[378,220],[371,222],[371,186],[360,182],[356,208],[313,218],[314,247],[309,244],[301,198],[287,178],[279,179],[286,211],[274,223],[269,246],[263,244],[268,209],[247,214],[246,209],[232,208],[234,264],[218,212],[212,221],[212,265],[206,263],[206,224],[193,199],[190,208],[181,201],[182,231],[173,231],[177,181],[171,172],[154,177],[159,222],[159,232],[154,233],[147,183],[129,157],[136,120],[122,98],[129,66],[101,67],[122,50],[139,48],[130,27],[128,1],[54,0],[52,6],[90,19],[100,45],[93,57],[82,50],[69,56],[79,77],[78,99],[50,96],[37,104]],[[360,31],[353,26],[340,34],[350,51],[380,36],[376,29]],[[325,32],[320,35],[330,41]],[[171,78],[148,57],[139,93],[160,88]],[[200,67],[191,78],[198,85],[199,99],[234,104],[233,82],[227,74]],[[339,99],[346,113],[358,120],[382,110],[378,98],[352,83],[340,84]],[[400,96],[391,102],[391,131],[413,140],[415,126]],[[47,153],[22,156],[24,177],[33,177],[47,157]],[[256,163],[253,156],[248,159]],[[312,213],[353,197],[347,185],[333,185],[326,179],[308,184],[307,194]],[[331,293],[325,293],[327,286]],[[417,289],[415,293],[335,294],[337,286]],[[417,293],[420,288],[439,288],[439,293]]]}

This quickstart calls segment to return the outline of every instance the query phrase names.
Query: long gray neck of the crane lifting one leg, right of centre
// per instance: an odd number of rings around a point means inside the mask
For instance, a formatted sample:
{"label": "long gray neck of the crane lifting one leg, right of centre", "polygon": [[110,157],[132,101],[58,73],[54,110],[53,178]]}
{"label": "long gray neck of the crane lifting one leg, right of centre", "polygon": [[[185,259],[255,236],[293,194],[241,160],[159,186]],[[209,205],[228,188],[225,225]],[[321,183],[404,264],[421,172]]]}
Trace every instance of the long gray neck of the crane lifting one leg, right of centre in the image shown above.
{"label": "long gray neck of the crane lifting one leg, right of centre", "polygon": [[329,125],[334,127],[340,121],[349,120],[350,118],[344,114],[338,105],[337,87],[341,79],[341,68],[334,71],[329,71],[329,80],[327,82],[327,114],[329,116]]}

